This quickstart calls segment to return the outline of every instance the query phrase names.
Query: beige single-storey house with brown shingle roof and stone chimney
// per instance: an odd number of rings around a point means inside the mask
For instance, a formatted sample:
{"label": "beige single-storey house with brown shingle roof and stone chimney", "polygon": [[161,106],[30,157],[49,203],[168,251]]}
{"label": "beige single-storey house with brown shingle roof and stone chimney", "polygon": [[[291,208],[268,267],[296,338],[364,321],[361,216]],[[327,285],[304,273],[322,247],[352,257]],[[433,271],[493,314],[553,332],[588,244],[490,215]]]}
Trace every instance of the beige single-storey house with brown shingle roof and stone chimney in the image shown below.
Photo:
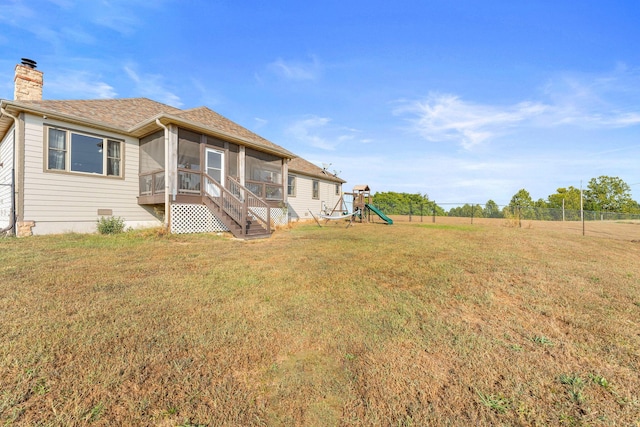
{"label": "beige single-storey house with brown shingle roof and stone chimney", "polygon": [[121,217],[266,237],[341,197],[345,181],[207,107],[43,100],[43,74],[24,59],[14,81],[14,100],[0,100],[0,231],[95,232]]}

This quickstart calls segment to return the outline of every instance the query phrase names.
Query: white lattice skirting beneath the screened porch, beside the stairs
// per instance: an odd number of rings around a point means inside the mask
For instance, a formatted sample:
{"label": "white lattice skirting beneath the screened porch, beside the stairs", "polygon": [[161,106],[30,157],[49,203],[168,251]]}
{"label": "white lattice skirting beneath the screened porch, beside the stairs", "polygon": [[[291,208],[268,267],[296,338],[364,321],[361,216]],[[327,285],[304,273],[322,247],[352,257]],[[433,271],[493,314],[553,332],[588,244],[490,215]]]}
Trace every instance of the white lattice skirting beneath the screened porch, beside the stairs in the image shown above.
{"label": "white lattice skirting beneath the screened porch, beside the stairs", "polygon": [[[266,220],[265,209],[255,212]],[[280,208],[271,208],[271,222],[274,225],[287,225],[287,213]],[[229,231],[205,205],[176,203],[171,205],[171,232],[175,234],[187,233],[219,233]]]}

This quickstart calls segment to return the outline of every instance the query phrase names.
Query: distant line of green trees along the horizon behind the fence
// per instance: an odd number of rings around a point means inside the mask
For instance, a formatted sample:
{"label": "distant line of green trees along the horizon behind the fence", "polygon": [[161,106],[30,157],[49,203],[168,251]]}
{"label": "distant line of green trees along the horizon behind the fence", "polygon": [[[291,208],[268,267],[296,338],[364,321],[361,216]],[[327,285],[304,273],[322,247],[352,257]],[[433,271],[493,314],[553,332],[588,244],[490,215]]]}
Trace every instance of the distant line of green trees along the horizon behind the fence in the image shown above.
{"label": "distant line of green trees along the horizon behind the fence", "polygon": [[[580,189],[558,188],[546,199],[534,201],[527,190],[520,189],[507,206],[488,200],[484,206],[465,204],[446,211],[427,194],[382,192],[373,195],[373,204],[388,215],[437,215],[476,218],[509,218],[542,220],[580,219]],[[618,177],[606,175],[592,178],[582,192],[583,210],[602,215],[608,213],[638,214],[640,204],[632,199],[631,188]]]}

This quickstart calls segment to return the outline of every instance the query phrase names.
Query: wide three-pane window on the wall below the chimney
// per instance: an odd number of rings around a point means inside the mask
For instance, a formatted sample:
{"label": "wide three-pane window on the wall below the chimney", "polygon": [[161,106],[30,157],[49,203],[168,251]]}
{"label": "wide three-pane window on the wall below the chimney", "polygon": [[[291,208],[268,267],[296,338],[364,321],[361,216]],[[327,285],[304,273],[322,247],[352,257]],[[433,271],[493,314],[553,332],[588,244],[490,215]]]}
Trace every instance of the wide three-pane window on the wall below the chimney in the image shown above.
{"label": "wide three-pane window on the wall below the chimney", "polygon": [[47,170],[122,176],[122,141],[48,128]]}

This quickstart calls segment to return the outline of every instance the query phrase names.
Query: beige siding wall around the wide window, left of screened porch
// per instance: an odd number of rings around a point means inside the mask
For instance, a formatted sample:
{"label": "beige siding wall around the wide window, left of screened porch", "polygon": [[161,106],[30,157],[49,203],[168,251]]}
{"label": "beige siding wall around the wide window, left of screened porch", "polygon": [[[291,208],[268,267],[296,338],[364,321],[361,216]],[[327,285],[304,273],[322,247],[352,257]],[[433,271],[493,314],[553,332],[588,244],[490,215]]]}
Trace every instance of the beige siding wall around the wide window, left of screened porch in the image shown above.
{"label": "beige siding wall around the wide window, left of screened porch", "polygon": [[[124,140],[122,178],[45,171],[45,123]],[[139,206],[138,140],[87,127],[25,115],[24,220],[34,234],[93,232],[98,209],[110,209],[127,226],[160,225],[153,211]]]}

